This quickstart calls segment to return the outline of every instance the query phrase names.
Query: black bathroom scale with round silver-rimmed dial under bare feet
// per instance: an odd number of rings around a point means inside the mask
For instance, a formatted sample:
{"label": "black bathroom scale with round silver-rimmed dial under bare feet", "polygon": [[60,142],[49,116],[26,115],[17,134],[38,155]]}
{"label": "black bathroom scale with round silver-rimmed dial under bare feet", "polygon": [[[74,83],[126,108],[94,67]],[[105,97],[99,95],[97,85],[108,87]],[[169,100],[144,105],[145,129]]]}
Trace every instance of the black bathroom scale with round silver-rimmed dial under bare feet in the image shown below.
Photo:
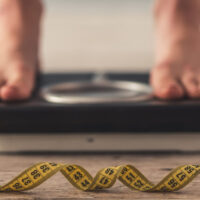
{"label": "black bathroom scale with round silver-rimmed dial under bare feet", "polygon": [[144,73],[42,74],[0,103],[0,152],[199,151],[200,101],[160,101]]}

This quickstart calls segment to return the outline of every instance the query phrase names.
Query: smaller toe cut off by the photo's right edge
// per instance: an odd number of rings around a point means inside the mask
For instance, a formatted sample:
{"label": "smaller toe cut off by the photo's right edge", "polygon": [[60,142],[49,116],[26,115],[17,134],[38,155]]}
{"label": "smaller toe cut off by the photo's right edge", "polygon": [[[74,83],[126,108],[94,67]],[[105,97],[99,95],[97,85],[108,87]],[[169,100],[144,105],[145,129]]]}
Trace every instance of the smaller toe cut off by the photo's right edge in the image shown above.
{"label": "smaller toe cut off by the photo's right edge", "polygon": [[200,98],[200,81],[195,76],[186,74],[182,78],[187,96],[193,99]]}

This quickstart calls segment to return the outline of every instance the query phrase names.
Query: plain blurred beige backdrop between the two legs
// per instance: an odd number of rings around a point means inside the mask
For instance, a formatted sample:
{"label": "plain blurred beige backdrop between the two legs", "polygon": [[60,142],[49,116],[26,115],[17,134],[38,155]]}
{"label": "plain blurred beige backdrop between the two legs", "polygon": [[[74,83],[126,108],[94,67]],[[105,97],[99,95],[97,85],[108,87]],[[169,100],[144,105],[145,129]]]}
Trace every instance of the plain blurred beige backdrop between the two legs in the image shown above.
{"label": "plain blurred beige backdrop between the two legs", "polygon": [[44,72],[149,71],[153,0],[44,0]]}

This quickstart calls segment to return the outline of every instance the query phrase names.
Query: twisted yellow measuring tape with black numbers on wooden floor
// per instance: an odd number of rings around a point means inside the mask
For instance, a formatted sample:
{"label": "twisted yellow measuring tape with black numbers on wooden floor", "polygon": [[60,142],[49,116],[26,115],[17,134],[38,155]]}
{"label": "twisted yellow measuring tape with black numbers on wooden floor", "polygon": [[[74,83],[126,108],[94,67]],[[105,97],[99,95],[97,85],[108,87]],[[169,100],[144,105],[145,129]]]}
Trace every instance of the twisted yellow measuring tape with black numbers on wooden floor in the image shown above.
{"label": "twisted yellow measuring tape with black numbers on wooden floor", "polygon": [[31,166],[9,183],[0,187],[1,192],[30,190],[60,171],[76,188],[94,191],[110,188],[118,179],[130,189],[142,192],[173,192],[186,186],[200,173],[200,165],[183,165],[174,169],[162,181],[154,185],[139,170],[131,165],[108,167],[100,170],[93,178],[78,165],[50,162]]}

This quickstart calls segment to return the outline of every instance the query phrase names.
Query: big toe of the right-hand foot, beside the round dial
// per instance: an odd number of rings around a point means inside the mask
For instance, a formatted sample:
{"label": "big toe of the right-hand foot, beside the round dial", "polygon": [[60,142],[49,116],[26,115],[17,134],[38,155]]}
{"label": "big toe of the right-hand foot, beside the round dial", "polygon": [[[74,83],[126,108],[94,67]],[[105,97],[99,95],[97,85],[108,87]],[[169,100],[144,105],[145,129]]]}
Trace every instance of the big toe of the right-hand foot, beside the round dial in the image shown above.
{"label": "big toe of the right-hand foot, beside the round dial", "polygon": [[182,86],[168,65],[160,65],[152,71],[151,85],[155,96],[160,99],[180,99],[184,96]]}

